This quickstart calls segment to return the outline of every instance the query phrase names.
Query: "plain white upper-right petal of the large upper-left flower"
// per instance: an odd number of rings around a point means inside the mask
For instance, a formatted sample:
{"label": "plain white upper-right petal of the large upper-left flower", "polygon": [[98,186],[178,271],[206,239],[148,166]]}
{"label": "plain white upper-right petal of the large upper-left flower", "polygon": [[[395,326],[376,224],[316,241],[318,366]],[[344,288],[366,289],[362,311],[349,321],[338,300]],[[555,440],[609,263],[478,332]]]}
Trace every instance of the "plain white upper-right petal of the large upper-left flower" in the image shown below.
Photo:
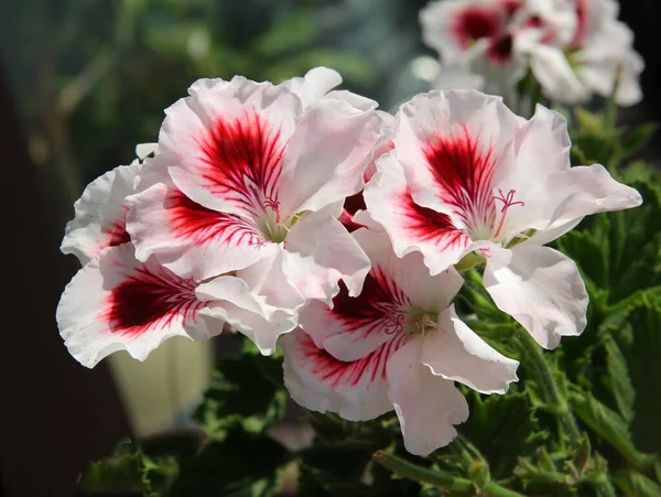
{"label": "plain white upper-right petal of the large upper-left flower", "polygon": [[379,140],[381,120],[347,101],[324,99],[307,108],[286,148],[280,179],[285,213],[318,210],[358,193]]}

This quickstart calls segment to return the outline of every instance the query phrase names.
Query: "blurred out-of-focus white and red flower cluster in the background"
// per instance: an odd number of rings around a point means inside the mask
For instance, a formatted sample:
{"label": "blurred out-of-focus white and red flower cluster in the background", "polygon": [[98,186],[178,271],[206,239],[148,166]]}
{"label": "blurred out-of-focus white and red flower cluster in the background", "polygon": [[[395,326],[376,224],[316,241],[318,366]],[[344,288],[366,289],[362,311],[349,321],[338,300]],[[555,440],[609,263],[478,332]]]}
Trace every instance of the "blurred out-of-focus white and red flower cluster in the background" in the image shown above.
{"label": "blurred out-of-focus white and red flower cluster in the background", "polygon": [[617,15],[615,0],[437,0],[420,19],[444,64],[440,88],[513,99],[516,85],[532,74],[554,101],[609,96],[617,84],[615,99],[628,106],[642,98],[644,64]]}

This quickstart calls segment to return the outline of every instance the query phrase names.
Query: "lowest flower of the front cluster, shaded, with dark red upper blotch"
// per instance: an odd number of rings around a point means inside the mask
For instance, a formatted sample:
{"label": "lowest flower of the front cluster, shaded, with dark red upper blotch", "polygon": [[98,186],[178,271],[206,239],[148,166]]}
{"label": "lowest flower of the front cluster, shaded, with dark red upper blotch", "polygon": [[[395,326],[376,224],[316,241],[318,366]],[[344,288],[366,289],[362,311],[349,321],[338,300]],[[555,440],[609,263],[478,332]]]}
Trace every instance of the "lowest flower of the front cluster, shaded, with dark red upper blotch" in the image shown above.
{"label": "lowest flower of the front cluster, shaded, with dark red upper blotch", "polygon": [[463,279],[454,269],[430,275],[419,253],[397,257],[381,229],[354,236],[372,262],[362,292],[305,305],[301,327],[281,339],[284,383],[301,406],[350,421],[394,409],[407,450],[426,455],[468,417],[454,381],[503,393],[518,363],[457,317],[451,302]]}

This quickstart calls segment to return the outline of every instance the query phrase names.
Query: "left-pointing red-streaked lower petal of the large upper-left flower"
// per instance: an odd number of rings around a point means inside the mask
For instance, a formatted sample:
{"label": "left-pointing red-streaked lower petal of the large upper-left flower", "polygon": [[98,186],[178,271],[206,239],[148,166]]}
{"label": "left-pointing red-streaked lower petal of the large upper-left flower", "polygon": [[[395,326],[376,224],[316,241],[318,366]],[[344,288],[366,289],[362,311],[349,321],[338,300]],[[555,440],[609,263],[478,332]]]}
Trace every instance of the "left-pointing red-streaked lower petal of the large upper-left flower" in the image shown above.
{"label": "left-pointing red-streaked lower petal of the large upper-left flower", "polygon": [[127,230],[138,259],[153,256],[182,277],[205,280],[247,268],[278,250],[252,219],[196,204],[172,182],[155,184],[129,202]]}

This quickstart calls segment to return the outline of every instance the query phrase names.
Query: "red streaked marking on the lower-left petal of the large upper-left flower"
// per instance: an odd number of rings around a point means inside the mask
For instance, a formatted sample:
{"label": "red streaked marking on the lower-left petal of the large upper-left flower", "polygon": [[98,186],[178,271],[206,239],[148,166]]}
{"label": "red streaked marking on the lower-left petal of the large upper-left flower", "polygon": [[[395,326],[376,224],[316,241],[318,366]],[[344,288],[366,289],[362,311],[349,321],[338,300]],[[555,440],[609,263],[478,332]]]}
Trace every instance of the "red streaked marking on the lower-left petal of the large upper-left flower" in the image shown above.
{"label": "red streaked marking on the lower-left petal of the large upper-left flower", "polygon": [[173,190],[166,203],[170,226],[175,237],[189,239],[196,246],[213,240],[234,246],[264,245],[257,226],[250,220],[203,207],[180,190]]}

